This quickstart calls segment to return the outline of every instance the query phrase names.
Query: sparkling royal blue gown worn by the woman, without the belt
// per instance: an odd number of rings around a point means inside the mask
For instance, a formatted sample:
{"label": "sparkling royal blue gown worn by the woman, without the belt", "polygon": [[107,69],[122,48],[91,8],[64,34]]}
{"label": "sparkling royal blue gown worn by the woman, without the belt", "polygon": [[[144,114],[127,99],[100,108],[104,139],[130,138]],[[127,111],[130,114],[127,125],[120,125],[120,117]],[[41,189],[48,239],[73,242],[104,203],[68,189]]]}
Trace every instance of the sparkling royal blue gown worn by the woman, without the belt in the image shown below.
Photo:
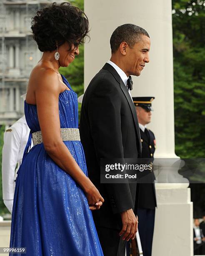
{"label": "sparkling royal blue gown worn by the woman, without the belt", "polygon": [[[77,94],[61,76],[70,91],[59,95],[60,128],[78,128]],[[40,131],[36,105],[25,102],[25,117],[32,132]],[[31,135],[16,180],[10,247],[26,247],[28,256],[102,256],[83,190],[43,144],[29,151],[30,143]],[[87,175],[81,142],[64,143]]]}

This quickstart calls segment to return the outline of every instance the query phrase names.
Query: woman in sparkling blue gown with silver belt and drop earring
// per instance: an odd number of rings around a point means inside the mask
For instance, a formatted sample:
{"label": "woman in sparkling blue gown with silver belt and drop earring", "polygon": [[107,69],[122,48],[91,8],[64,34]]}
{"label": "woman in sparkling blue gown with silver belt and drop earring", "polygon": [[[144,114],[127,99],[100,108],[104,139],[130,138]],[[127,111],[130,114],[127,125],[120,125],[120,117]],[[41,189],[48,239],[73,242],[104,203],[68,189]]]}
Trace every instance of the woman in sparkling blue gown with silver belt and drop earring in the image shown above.
{"label": "woman in sparkling blue gown with silver belt and drop earring", "polygon": [[53,3],[32,21],[43,55],[28,83],[31,133],[16,179],[10,238],[10,247],[26,247],[28,256],[103,255],[91,210],[104,200],[87,178],[77,94],[58,72],[79,54],[87,31],[87,17],[69,3]]}

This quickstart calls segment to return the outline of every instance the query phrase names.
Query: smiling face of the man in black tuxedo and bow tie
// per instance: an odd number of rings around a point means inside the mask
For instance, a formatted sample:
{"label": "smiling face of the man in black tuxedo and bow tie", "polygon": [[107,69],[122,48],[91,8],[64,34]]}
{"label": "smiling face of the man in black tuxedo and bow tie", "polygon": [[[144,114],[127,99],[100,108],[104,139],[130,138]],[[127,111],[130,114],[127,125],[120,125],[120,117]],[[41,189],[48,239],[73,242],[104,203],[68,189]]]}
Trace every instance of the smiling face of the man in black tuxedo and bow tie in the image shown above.
{"label": "smiling face of the man in black tuxedo and bow tie", "polygon": [[150,51],[150,38],[148,36],[142,35],[140,42],[135,44],[131,49],[127,47],[126,54],[126,74],[140,76],[141,71],[145,67],[145,63],[150,61],[149,59]]}

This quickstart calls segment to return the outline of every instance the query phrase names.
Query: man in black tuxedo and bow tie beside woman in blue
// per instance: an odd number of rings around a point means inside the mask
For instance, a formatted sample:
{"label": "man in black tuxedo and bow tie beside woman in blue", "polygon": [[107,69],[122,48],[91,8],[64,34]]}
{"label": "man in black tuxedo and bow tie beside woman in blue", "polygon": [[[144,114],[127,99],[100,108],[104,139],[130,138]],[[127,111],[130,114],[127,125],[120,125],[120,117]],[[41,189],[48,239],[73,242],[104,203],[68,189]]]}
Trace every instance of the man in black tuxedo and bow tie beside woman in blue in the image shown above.
{"label": "man in black tuxedo and bow tie beside woman in blue", "polygon": [[105,199],[103,207],[92,212],[103,253],[124,256],[125,241],[137,232],[139,187],[100,184],[100,159],[141,156],[130,76],[139,76],[149,62],[150,38],[143,28],[124,24],[112,33],[110,46],[110,61],[92,79],[82,100],[80,138],[89,178]]}

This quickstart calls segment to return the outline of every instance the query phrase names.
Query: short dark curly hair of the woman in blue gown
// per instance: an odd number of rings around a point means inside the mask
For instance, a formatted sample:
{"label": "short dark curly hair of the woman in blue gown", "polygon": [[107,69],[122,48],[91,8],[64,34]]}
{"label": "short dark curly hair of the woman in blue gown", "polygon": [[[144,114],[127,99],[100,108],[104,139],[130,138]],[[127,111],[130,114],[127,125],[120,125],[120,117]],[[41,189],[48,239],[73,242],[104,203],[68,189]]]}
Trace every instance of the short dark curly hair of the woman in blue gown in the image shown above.
{"label": "short dark curly hair of the woman in blue gown", "polygon": [[32,18],[33,39],[40,51],[54,51],[67,42],[72,47],[84,42],[89,22],[85,13],[68,2],[56,2],[37,11]]}

